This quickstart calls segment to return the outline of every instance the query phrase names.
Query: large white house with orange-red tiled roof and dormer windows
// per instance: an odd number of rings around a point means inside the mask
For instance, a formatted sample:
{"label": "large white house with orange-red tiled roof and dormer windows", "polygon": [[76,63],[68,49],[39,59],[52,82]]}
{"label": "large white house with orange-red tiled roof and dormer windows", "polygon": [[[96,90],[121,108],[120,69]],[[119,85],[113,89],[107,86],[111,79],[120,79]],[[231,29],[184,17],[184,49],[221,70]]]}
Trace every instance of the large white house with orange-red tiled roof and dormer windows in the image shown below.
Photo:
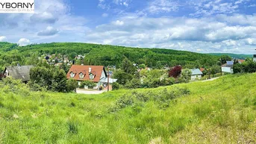
{"label": "large white house with orange-red tiled roof and dormer windows", "polygon": [[[74,78],[78,81],[78,85],[81,85],[82,81],[93,81],[97,84],[94,89],[98,89],[100,86],[107,87],[107,72],[104,66],[72,65],[66,77],[68,79]],[[113,78],[109,78],[108,80],[110,84],[117,81],[117,79]]]}

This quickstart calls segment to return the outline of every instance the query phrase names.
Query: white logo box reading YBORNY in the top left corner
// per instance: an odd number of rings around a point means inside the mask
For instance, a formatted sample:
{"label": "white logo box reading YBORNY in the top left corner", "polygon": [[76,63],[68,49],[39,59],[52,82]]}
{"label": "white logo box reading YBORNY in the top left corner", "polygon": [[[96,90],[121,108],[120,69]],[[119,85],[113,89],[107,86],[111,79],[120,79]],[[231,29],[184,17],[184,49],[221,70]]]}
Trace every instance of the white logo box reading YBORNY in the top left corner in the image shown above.
{"label": "white logo box reading YBORNY in the top left corner", "polygon": [[0,13],[34,13],[34,0],[0,0]]}

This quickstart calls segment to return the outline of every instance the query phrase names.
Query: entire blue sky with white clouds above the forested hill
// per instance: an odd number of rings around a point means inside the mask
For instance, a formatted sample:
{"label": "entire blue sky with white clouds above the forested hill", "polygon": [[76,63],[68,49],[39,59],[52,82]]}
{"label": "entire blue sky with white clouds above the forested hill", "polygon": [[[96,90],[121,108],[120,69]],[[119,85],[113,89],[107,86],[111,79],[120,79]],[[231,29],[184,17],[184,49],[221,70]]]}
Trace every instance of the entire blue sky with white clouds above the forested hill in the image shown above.
{"label": "entire blue sky with white clouds above the forested hill", "polygon": [[35,0],[35,13],[0,13],[0,42],[255,54],[256,0]]}

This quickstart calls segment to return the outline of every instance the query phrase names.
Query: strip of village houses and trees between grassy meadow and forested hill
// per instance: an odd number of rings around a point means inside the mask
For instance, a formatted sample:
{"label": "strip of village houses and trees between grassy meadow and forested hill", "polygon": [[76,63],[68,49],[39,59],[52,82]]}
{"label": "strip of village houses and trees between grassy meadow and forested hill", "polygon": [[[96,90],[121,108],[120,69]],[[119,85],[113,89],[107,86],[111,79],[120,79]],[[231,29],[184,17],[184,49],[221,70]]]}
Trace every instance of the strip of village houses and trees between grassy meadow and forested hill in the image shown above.
{"label": "strip of village houses and trees between grassy meadow and forested hill", "polygon": [[[77,84],[74,82],[74,88],[72,88],[72,91],[75,92],[77,90],[102,90],[104,92],[118,90],[119,88],[150,88],[188,83],[189,81],[202,81],[221,75],[232,74],[234,73],[234,64],[245,62],[245,60],[223,55],[217,61],[221,66],[216,65],[210,68],[196,68],[197,66],[193,65],[148,67],[146,63],[132,63],[131,60],[125,58],[122,60],[124,66],[121,69],[117,69],[114,65],[84,65],[86,58],[87,54],[72,54],[72,56],[70,54],[42,54],[40,57],[37,57],[37,61],[39,63],[46,63],[50,69],[63,69],[66,75],[63,79],[76,81]],[[1,74],[1,79],[12,77],[28,84],[31,80],[30,70],[34,69],[34,67],[37,66],[21,66],[19,63],[17,66],[6,66]],[[133,77],[135,79],[132,79]],[[37,83],[39,82],[37,81]],[[63,90],[63,92],[65,91]]]}

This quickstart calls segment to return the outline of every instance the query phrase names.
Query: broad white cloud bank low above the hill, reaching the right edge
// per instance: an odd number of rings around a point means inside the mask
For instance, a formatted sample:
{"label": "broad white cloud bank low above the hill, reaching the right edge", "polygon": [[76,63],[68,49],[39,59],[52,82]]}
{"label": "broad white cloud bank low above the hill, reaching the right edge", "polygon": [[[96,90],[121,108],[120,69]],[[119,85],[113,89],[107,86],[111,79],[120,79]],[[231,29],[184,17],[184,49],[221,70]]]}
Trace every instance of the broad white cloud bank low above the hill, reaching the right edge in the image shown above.
{"label": "broad white cloud bank low above the hill, reaching the right edge", "polygon": [[[240,16],[226,17],[234,21],[236,18],[240,19]],[[250,19],[245,19],[246,23],[256,18],[256,16],[244,17],[250,17]],[[88,43],[174,48],[205,53],[252,52],[254,41],[248,41],[248,38],[256,39],[256,25],[234,26],[233,21],[219,21],[219,16],[202,18],[125,16],[119,18],[118,21],[97,26],[96,30],[85,37]]]}

